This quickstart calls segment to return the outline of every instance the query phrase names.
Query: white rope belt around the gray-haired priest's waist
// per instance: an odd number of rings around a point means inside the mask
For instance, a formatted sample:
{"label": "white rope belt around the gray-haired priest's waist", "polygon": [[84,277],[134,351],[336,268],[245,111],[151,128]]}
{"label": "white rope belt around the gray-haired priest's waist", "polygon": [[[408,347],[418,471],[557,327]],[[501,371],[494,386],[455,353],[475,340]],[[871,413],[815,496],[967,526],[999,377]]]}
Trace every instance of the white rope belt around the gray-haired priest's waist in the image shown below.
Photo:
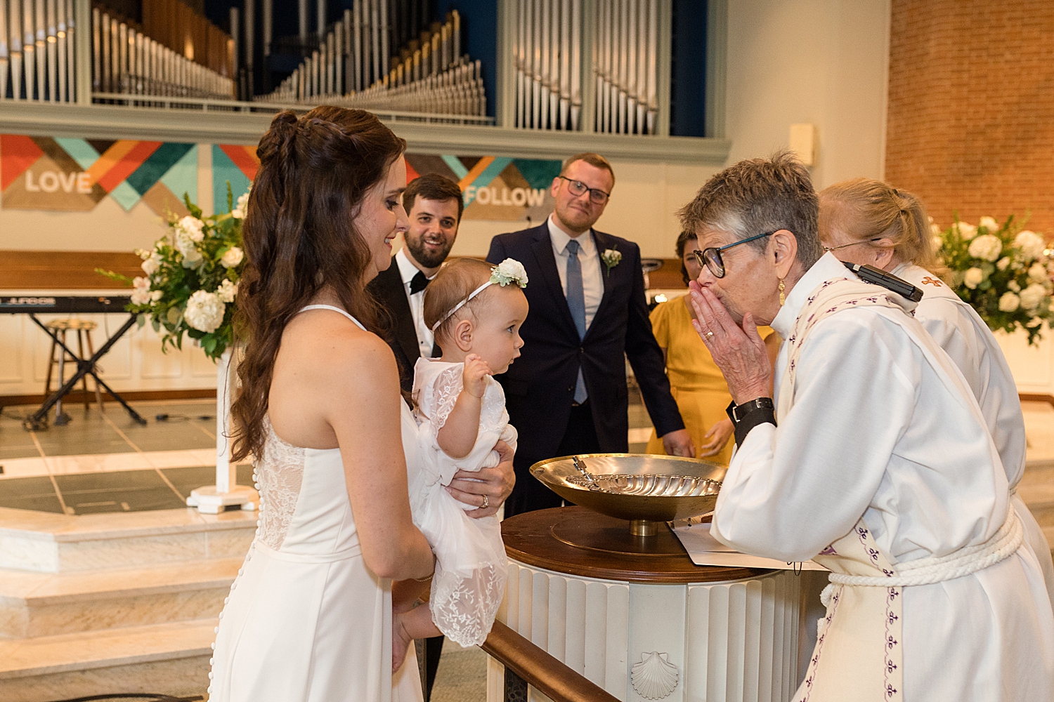
{"label": "white rope belt around the gray-haired priest's waist", "polygon": [[831,582],[837,585],[858,585],[863,587],[904,587],[907,585],[932,585],[955,580],[995,565],[1015,553],[1024,539],[1024,529],[1017,519],[1013,505],[1008,505],[1007,521],[991,539],[976,546],[965,546],[940,558],[920,558],[917,561],[897,564],[900,571],[892,578],[868,576],[847,576],[831,574]]}

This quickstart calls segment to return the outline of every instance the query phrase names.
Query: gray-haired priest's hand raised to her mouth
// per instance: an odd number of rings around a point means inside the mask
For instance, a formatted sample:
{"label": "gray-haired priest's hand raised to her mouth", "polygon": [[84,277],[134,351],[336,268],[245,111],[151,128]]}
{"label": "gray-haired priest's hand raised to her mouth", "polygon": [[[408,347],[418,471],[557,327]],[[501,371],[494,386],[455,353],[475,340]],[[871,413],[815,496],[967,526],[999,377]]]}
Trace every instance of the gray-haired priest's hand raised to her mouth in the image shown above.
{"label": "gray-haired priest's hand raised to her mouth", "polygon": [[696,281],[689,287],[691,307],[696,310],[691,325],[721,368],[731,399],[736,404],[742,404],[759,397],[769,397],[773,367],[754,316],[750,313],[743,315],[741,327],[714,293]]}

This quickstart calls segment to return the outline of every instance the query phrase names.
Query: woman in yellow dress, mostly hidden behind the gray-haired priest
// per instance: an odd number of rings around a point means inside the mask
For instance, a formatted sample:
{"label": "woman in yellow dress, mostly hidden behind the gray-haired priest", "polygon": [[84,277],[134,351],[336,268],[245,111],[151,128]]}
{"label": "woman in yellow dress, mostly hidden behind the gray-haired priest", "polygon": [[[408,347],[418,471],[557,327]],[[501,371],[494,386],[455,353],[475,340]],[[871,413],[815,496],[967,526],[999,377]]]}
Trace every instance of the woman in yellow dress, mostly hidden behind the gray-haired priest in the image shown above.
{"label": "woman in yellow dress, mostly hidden behind the gray-haired priest", "polygon": [[[681,275],[685,284],[699,278],[700,266],[694,250],[699,248],[696,235],[682,232],[677,238],[677,256],[681,259]],[[725,408],[731,402],[724,376],[710,358],[699,334],[691,326],[695,312],[688,305],[688,296],[660,303],[651,310],[651,329],[666,357],[666,376],[669,389],[681,410],[684,426],[696,444],[697,458],[711,458],[727,465],[731,458],[731,421]],[[769,360],[775,361],[779,350],[779,335],[767,326],[758,327],[765,340]],[[664,454],[662,439],[651,429],[647,453]]]}

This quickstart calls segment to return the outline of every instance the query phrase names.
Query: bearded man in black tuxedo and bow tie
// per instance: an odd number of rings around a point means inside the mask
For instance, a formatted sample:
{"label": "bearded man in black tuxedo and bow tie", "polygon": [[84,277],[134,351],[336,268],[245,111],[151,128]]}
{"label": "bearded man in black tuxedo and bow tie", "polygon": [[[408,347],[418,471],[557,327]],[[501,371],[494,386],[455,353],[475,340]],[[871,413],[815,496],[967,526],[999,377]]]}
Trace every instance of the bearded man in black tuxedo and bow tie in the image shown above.
{"label": "bearded man in black tuxedo and bow tie", "polygon": [[424,320],[425,288],[447,260],[457,239],[465,202],[457,183],[438,174],[414,178],[403,190],[410,228],[392,264],[370,281],[369,288],[392,318],[388,344],[399,364],[403,389],[413,386],[413,364],[440,356]]}

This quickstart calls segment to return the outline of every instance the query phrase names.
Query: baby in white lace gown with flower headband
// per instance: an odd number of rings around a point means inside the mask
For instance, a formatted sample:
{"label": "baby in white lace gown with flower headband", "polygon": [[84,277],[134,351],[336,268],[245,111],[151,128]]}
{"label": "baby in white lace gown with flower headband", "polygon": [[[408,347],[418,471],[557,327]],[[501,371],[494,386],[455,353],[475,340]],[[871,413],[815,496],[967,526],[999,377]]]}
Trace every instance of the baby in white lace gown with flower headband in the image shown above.
{"label": "baby in white lace gown with flower headband", "polygon": [[[428,606],[396,615],[414,639],[442,633],[462,646],[483,643],[505,595],[508,561],[496,517],[472,519],[479,508],[446,489],[457,470],[499,464],[499,440],[515,450],[505,393],[491,377],[520,356],[527,317],[523,266],[461,259],[445,266],[425,292],[424,317],[443,349],[414,367],[414,416],[419,422],[421,470],[409,486],[414,524],[435,554]],[[435,629],[438,629],[436,631]]]}

